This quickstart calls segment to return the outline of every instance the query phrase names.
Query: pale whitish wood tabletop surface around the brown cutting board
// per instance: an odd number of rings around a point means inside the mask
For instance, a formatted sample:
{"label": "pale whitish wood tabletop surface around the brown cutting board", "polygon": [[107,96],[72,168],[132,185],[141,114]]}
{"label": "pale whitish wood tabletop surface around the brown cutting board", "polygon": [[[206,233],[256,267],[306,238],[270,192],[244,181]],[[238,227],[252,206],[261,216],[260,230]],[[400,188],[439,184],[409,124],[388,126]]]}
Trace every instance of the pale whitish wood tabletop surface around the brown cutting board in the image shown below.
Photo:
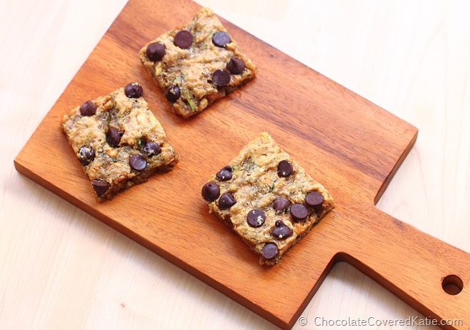
{"label": "pale whitish wood tabletop surface around the brown cutting board", "polygon": [[[378,207],[470,251],[469,1],[198,2],[417,126]],[[14,171],[124,4],[0,1],[0,329],[274,329]],[[303,316],[295,329],[419,314],[341,263]]]}

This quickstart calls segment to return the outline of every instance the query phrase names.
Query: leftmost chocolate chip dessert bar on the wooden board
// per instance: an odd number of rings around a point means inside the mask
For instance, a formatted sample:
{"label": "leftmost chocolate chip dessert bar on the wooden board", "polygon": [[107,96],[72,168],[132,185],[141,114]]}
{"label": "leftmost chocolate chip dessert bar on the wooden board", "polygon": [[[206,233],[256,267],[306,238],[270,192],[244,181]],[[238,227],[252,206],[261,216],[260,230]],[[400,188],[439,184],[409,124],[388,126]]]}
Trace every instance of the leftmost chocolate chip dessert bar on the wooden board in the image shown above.
{"label": "leftmost chocolate chip dessert bar on the wooden board", "polygon": [[131,83],[84,102],[62,119],[62,130],[99,201],[178,161],[142,94],[142,87]]}

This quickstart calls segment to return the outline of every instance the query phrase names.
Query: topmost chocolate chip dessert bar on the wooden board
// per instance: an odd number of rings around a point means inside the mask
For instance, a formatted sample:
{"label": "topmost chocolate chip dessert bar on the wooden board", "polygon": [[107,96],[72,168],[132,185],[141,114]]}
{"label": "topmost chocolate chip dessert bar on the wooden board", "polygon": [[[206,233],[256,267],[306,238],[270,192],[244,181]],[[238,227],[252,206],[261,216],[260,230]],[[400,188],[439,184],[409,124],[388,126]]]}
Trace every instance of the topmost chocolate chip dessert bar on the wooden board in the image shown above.
{"label": "topmost chocolate chip dessert bar on the wooden board", "polygon": [[247,59],[211,9],[150,41],[139,57],[176,114],[187,118],[254,78]]}

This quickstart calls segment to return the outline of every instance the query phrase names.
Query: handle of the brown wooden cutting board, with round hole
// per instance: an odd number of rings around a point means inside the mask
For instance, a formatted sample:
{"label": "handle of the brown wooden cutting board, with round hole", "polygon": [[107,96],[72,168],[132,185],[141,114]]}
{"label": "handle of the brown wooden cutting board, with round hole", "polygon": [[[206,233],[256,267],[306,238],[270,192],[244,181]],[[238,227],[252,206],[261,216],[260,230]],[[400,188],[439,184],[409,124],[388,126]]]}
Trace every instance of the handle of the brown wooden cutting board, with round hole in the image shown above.
{"label": "handle of the brown wooden cutting board, with round hole", "polygon": [[361,228],[351,230],[354,238],[337,260],[355,266],[443,329],[469,330],[470,254],[373,208]]}

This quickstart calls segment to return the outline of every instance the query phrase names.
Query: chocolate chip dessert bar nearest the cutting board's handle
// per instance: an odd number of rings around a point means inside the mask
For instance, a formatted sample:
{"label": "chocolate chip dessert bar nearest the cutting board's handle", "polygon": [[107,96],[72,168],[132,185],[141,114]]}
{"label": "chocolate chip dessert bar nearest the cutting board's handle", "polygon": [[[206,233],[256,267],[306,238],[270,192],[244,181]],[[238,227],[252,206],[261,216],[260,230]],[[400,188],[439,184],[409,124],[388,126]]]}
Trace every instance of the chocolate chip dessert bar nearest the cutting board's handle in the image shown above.
{"label": "chocolate chip dessert bar nearest the cutting board's handle", "polygon": [[276,264],[333,207],[324,186],[261,133],[202,187],[214,212],[259,255]]}

